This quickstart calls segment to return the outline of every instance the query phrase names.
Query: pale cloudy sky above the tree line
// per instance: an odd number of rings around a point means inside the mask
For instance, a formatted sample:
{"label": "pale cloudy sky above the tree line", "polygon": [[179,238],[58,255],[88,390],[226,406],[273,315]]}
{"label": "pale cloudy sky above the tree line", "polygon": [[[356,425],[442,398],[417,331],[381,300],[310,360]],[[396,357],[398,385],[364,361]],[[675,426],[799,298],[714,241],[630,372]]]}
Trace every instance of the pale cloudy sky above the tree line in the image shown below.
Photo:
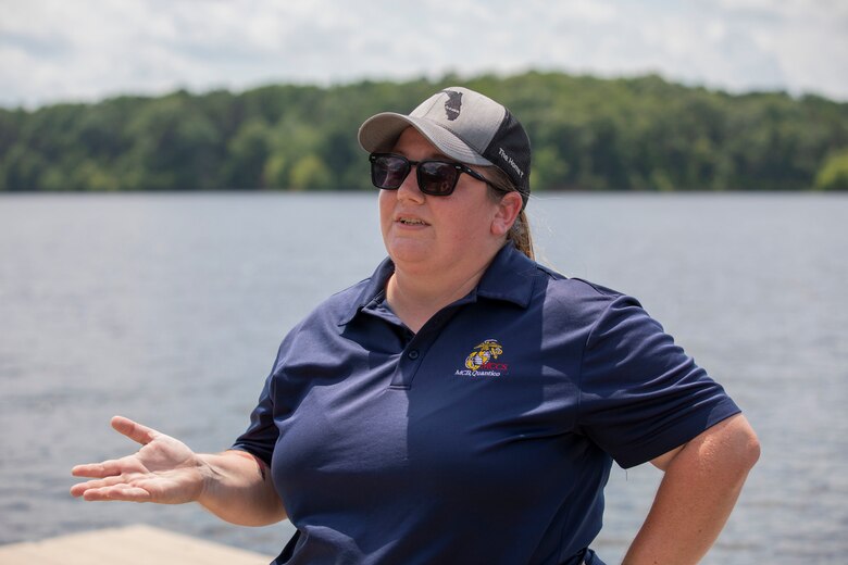
{"label": "pale cloudy sky above the tree line", "polygon": [[848,0],[0,0],[0,106],[447,73],[848,101]]}

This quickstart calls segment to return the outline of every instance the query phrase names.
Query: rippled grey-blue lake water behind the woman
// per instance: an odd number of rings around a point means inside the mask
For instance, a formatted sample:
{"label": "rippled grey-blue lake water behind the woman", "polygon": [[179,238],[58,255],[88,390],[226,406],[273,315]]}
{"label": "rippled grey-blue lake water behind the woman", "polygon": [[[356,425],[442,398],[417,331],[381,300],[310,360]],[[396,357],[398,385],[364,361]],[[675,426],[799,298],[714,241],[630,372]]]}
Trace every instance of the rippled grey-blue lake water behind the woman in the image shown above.
{"label": "rippled grey-blue lake water behind the woman", "polygon": [[[638,297],[746,411],[763,455],[707,564],[848,552],[848,198],[541,196],[540,254]],[[276,554],[291,528],[72,499],[128,453],[123,414],[226,448],[279,339],[383,258],[373,194],[0,198],[0,543],[149,523]],[[595,544],[620,560],[660,473],[613,467]]]}

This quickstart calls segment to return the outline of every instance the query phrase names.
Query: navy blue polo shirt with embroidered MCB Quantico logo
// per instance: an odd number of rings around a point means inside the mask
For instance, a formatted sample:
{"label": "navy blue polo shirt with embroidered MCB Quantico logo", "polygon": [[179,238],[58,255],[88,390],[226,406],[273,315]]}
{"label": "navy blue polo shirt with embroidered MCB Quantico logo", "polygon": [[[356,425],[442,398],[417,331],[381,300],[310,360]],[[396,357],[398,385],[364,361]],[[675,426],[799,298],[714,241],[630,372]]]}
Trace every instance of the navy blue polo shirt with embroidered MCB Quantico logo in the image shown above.
{"label": "navy blue polo shirt with embroidered MCB Quantico logo", "polygon": [[739,412],[635,299],[512,246],[417,334],[386,303],[392,271],[289,332],[234,445],[298,528],[275,563],[578,563],[612,460]]}

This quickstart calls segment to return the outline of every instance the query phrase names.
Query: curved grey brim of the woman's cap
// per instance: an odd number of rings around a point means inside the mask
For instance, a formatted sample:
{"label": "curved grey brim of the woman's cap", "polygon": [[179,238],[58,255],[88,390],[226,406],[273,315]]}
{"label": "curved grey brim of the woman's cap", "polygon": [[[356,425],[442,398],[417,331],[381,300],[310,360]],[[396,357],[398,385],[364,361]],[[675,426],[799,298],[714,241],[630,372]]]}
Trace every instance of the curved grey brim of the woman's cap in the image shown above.
{"label": "curved grey brim of the woman's cap", "polygon": [[367,118],[359,128],[359,145],[370,153],[389,151],[408,127],[414,127],[450,159],[471,165],[492,165],[491,161],[440,125],[394,112],[383,112]]}

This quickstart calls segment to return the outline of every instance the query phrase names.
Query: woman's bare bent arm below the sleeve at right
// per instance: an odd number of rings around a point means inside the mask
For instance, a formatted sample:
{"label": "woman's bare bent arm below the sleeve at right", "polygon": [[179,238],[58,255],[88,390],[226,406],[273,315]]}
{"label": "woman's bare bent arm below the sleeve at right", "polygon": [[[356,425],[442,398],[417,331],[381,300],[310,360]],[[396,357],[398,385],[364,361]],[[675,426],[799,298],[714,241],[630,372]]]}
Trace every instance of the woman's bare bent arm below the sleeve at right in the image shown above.
{"label": "woman's bare bent arm below the sleeve at right", "polygon": [[727,522],[759,454],[757,436],[737,415],[663,461],[665,476],[624,565],[698,563]]}

